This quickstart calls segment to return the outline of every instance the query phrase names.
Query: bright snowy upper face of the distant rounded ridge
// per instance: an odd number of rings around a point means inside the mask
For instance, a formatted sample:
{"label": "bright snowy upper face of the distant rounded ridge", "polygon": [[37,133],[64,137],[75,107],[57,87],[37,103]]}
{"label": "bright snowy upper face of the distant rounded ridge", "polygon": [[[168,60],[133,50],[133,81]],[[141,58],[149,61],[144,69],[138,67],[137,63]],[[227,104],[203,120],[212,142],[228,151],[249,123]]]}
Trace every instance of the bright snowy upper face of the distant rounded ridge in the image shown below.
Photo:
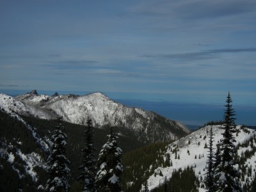
{"label": "bright snowy upper face of the distant rounded ridge", "polygon": [[134,111],[144,118],[146,116],[153,118],[151,113],[146,115],[146,112],[141,109],[126,108],[122,104],[113,102],[102,93],[92,93],[82,97],[60,95],[54,98],[28,93],[16,97],[16,99],[22,101],[27,108],[35,109],[35,111],[29,111],[34,116],[49,118],[48,111],[52,110],[55,115],[63,116],[64,120],[75,124],[84,124],[87,116],[91,116],[93,122],[99,126],[119,125],[118,121],[122,120],[124,124],[127,124],[125,116],[131,115]]}

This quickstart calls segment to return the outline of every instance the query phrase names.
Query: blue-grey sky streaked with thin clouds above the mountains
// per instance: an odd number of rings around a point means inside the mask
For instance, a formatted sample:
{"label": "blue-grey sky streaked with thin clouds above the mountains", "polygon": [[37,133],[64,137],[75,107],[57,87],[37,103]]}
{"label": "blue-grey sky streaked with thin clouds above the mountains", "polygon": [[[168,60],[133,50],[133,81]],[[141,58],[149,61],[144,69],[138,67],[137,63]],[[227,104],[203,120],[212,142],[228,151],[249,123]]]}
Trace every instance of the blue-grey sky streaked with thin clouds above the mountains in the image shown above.
{"label": "blue-grey sky streaked with thin clouds above the mountains", "polygon": [[0,0],[0,90],[256,107],[255,0]]}

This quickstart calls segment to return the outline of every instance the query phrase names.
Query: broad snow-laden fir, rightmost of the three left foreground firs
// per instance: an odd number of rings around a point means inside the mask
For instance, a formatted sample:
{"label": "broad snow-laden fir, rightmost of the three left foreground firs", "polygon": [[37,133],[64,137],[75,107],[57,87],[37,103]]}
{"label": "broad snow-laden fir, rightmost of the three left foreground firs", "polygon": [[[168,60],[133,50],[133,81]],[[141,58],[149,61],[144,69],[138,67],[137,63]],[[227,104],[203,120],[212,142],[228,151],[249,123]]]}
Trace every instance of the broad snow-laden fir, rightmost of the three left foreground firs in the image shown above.
{"label": "broad snow-laden fir, rightmost of the three left foreground firs", "polygon": [[111,129],[108,135],[108,141],[100,150],[97,166],[99,171],[95,177],[95,186],[97,192],[122,191],[120,186],[120,176],[124,172],[121,156],[122,149],[118,147],[117,137],[114,136]]}

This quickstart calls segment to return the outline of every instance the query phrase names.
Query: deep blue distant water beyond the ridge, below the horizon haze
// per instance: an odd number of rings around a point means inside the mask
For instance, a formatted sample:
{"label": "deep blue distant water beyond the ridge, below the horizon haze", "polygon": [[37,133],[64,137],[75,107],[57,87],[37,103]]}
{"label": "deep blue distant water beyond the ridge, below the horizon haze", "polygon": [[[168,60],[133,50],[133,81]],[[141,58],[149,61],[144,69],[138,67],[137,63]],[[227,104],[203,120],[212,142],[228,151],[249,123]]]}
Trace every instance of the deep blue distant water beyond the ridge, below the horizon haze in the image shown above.
{"label": "deep blue distant water beyond the ridge, below the horizon haze", "polygon": [[[224,104],[182,104],[172,102],[154,102],[145,100],[122,100],[117,102],[130,107],[138,107],[147,111],[154,111],[159,115],[172,120],[177,120],[188,126],[189,129],[198,129],[207,122],[223,120]],[[236,124],[256,125],[256,108],[248,106],[236,106]]]}

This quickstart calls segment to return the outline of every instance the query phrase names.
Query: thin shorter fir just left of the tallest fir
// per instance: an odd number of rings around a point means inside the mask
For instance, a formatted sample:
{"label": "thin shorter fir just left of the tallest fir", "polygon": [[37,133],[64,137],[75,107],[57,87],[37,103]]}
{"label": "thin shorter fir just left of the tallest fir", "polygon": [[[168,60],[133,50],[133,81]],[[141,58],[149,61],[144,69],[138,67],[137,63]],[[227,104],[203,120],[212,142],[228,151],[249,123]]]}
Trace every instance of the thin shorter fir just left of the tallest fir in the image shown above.
{"label": "thin shorter fir just left of the tallest fir", "polygon": [[209,136],[209,154],[207,155],[207,171],[206,171],[206,177],[205,177],[205,186],[206,189],[209,192],[214,192],[214,169],[213,169],[213,164],[214,164],[214,154],[213,154],[213,147],[212,147],[212,143],[213,143],[213,132],[212,132],[212,126],[210,129],[210,136]]}

